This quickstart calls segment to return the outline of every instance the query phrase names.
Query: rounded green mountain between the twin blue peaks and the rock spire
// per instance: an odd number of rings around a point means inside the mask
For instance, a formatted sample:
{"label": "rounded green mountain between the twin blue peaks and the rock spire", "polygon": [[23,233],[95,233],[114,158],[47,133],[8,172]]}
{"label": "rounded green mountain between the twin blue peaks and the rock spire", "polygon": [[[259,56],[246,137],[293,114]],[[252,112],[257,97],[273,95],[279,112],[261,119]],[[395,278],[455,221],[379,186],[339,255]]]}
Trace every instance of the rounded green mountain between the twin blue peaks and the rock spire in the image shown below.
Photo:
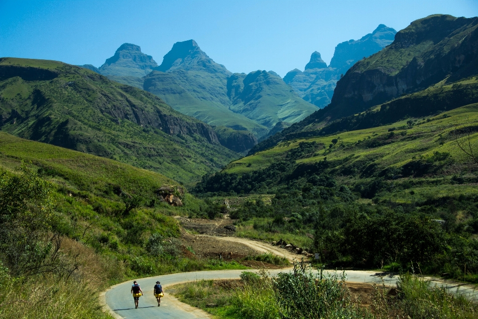
{"label": "rounded green mountain between the twin blue peaks and the rock spire", "polygon": [[235,73],[228,80],[230,109],[272,129],[278,122],[295,123],[317,108],[298,97],[276,73]]}

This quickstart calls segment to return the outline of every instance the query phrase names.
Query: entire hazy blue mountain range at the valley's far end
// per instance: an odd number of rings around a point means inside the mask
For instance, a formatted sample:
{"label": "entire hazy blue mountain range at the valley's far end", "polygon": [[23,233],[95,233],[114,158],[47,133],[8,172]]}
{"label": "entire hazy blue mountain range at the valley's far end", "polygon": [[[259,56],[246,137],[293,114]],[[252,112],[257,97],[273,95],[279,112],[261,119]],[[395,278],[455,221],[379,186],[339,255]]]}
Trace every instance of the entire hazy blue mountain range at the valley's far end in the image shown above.
{"label": "entire hazy blue mountain range at the valley's far end", "polygon": [[[194,40],[175,43],[160,65],[139,46],[124,43],[99,68],[83,67],[149,91],[175,110],[213,127],[238,131],[220,140],[243,152],[249,145],[245,140],[256,143],[328,105],[341,72],[391,43],[395,33],[381,24],[357,41],[340,43],[329,67],[314,52],[304,72],[295,69],[284,79],[273,71],[233,74]],[[216,131],[218,135],[226,132]],[[233,136],[240,138],[240,147],[232,142]]]}

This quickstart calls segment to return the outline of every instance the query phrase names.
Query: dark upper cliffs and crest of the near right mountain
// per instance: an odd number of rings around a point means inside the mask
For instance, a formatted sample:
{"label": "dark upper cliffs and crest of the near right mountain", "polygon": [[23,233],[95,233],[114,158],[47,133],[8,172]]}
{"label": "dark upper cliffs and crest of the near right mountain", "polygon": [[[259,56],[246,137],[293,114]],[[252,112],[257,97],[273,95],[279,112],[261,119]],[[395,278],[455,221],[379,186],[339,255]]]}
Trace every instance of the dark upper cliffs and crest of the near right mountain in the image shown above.
{"label": "dark upper cliffs and crest of the near right mountain", "polygon": [[446,78],[477,74],[477,24],[476,17],[441,14],[413,21],[391,45],[347,72],[321,117],[348,116]]}

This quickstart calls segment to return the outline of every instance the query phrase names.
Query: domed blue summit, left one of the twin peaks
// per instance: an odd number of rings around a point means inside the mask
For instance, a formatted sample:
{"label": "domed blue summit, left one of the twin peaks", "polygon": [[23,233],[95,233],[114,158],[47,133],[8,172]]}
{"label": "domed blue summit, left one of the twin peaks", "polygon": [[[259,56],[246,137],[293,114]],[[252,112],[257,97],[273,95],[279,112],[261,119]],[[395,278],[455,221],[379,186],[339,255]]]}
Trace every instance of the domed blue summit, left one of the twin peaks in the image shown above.
{"label": "domed blue summit, left one of the twin peaks", "polygon": [[151,72],[158,64],[153,57],[141,52],[138,45],[123,43],[115,55],[100,66],[100,73],[106,76],[142,77]]}

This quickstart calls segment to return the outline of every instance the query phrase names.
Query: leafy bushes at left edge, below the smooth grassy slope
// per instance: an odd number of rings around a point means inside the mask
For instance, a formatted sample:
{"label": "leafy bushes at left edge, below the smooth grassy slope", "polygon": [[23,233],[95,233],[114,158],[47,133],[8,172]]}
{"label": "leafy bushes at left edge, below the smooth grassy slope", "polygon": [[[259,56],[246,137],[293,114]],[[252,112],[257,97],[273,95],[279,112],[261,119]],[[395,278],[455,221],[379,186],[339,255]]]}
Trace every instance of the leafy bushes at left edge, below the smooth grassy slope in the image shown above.
{"label": "leafy bushes at left edge, below the smooth grassy slope", "polygon": [[13,276],[74,270],[61,261],[60,236],[49,235],[52,189],[25,164],[0,175],[0,261]]}

